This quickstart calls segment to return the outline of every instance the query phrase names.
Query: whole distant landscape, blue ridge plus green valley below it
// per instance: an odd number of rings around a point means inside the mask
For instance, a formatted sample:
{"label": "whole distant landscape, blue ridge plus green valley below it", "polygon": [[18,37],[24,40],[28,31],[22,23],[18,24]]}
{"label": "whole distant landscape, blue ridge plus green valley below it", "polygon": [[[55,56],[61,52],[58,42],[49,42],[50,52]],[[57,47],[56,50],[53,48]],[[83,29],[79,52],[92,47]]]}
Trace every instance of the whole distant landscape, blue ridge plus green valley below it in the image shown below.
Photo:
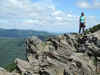
{"label": "whole distant landscape, blue ridge plus green valley below it", "polygon": [[24,39],[31,36],[37,36],[41,40],[45,40],[49,36],[54,36],[54,34],[45,31],[0,28],[0,59],[2,57],[5,59],[0,61],[0,66],[4,67],[14,61],[16,57],[25,59]]}

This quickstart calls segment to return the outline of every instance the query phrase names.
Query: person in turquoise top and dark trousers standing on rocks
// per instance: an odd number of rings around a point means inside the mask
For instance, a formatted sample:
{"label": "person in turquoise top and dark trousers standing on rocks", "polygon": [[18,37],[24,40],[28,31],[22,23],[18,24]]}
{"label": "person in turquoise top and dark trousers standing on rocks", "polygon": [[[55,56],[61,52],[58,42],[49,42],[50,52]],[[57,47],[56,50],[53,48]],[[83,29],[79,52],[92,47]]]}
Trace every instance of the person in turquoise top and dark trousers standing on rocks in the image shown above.
{"label": "person in turquoise top and dark trousers standing on rocks", "polygon": [[80,16],[79,33],[81,33],[81,30],[84,33],[84,30],[85,30],[85,27],[86,27],[85,24],[86,24],[86,17],[84,15],[84,12],[82,12],[81,16]]}

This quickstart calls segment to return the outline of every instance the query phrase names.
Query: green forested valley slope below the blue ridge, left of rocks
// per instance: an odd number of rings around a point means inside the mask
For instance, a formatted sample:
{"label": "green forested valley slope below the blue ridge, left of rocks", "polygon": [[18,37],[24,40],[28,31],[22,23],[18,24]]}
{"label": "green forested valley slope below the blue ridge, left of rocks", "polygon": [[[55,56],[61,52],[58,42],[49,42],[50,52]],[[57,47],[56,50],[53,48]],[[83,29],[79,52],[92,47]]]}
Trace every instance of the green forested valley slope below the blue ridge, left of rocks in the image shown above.
{"label": "green forested valley slope below the blue ridge, left of rocks", "polygon": [[0,66],[12,63],[15,58],[25,59],[23,38],[0,38]]}

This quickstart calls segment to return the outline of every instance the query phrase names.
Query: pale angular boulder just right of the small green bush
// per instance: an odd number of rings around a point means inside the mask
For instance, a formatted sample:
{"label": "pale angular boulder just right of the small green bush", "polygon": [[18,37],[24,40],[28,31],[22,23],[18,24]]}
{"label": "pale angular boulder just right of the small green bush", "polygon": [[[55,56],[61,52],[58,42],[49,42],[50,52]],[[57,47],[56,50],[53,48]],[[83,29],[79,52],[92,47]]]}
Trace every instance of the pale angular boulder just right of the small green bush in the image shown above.
{"label": "pale angular boulder just right of the small green bush", "polygon": [[[21,60],[21,59],[16,59],[15,63],[17,65],[17,70],[22,74],[22,75],[33,75],[35,70],[35,66],[32,66],[28,61]],[[39,66],[39,65],[38,65]]]}

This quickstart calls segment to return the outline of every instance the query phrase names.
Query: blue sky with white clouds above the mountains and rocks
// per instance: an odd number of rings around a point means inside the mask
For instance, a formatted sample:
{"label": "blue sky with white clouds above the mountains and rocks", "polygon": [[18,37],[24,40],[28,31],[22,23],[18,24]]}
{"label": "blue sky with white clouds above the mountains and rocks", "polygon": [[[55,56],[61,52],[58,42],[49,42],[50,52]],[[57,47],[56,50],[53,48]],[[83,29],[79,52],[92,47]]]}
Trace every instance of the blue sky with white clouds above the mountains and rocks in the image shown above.
{"label": "blue sky with white clouds above the mountains and rocks", "polygon": [[0,0],[0,28],[78,32],[82,11],[87,28],[100,23],[100,0]]}

